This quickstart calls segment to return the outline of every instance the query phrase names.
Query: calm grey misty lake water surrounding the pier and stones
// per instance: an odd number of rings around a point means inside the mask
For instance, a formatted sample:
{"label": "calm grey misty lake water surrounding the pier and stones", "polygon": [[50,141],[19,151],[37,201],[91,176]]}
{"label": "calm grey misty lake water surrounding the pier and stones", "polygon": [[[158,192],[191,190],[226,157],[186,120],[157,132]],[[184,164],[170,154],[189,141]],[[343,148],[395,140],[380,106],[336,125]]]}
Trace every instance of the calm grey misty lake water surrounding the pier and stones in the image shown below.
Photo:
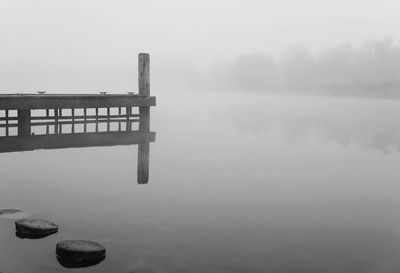
{"label": "calm grey misty lake water surrounding the pier and stones", "polygon": [[[137,146],[0,154],[0,272],[399,272],[400,102],[155,93],[150,181]],[[185,102],[185,104],[183,104]],[[102,243],[66,269],[56,243]]]}

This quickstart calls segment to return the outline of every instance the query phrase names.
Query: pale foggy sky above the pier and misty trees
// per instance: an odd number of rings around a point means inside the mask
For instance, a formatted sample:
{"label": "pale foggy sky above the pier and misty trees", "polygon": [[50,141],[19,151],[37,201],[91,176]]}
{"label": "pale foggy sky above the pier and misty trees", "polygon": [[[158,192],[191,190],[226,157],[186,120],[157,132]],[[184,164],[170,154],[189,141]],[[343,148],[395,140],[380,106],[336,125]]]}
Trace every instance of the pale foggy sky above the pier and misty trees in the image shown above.
{"label": "pale foggy sky above the pier and misty trees", "polygon": [[3,0],[0,92],[136,88],[138,52],[152,54],[157,79],[177,64],[208,69],[298,44],[315,52],[398,39],[399,7],[392,0]]}

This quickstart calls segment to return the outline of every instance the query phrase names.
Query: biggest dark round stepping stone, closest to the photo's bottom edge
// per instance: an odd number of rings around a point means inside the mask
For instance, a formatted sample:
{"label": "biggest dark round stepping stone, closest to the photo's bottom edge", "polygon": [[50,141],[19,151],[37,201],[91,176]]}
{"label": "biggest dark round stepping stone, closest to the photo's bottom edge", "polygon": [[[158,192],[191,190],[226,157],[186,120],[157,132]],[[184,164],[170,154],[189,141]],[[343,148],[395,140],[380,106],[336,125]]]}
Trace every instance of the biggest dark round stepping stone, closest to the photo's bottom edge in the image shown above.
{"label": "biggest dark round stepping stone, closest to the photo's bottom edge", "polygon": [[66,240],[57,243],[56,255],[64,267],[87,267],[103,261],[106,258],[106,249],[92,241]]}

